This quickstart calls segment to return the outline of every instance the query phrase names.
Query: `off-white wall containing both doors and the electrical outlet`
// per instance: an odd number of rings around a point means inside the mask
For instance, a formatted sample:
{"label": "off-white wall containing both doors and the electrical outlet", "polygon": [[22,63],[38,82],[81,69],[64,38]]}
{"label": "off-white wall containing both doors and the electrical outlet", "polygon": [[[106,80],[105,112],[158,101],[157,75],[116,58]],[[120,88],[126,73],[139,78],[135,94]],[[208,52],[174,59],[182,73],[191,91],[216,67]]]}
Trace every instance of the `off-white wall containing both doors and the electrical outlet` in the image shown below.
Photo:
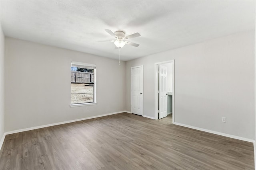
{"label": "off-white wall containing both doors and the electrical outlet", "polygon": [[254,30],[128,61],[126,110],[130,67],[144,66],[144,115],[154,117],[154,63],[172,59],[175,122],[254,139]]}

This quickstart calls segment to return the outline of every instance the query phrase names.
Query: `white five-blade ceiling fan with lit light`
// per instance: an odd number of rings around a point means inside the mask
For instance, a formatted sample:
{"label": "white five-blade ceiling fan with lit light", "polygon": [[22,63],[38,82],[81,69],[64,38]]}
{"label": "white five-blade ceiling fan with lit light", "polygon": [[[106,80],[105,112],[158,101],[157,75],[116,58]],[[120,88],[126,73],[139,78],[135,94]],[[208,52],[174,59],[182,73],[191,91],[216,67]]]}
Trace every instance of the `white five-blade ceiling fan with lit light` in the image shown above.
{"label": "white five-blade ceiling fan with lit light", "polygon": [[125,36],[123,31],[116,31],[115,33],[113,33],[110,29],[105,29],[105,31],[109,33],[111,36],[113,36],[116,40],[106,40],[106,41],[99,41],[99,42],[114,42],[114,44],[116,45],[115,49],[120,49],[124,47],[125,44],[132,45],[134,47],[139,46],[139,44],[132,43],[126,40],[130,38],[139,37],[140,33],[134,33],[134,34]]}

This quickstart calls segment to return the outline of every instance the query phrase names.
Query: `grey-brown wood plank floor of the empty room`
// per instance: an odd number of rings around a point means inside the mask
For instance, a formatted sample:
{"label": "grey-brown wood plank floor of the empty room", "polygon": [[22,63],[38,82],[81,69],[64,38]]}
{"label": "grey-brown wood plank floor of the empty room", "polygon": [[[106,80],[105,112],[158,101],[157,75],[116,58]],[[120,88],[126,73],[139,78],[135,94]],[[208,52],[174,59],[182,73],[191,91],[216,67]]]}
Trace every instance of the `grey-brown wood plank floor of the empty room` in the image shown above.
{"label": "grey-brown wood plank floor of the empty room", "polygon": [[253,144],[130,113],[6,135],[1,170],[254,170]]}

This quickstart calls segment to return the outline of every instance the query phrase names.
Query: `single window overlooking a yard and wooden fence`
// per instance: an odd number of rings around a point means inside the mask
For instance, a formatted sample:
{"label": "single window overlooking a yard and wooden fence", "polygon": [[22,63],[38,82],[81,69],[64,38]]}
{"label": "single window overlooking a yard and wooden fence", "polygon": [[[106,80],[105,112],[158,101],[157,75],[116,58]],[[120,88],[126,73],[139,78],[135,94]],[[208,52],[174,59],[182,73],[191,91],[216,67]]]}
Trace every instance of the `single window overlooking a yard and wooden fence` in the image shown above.
{"label": "single window overlooking a yard and wooden fence", "polygon": [[94,104],[96,65],[71,62],[71,105]]}

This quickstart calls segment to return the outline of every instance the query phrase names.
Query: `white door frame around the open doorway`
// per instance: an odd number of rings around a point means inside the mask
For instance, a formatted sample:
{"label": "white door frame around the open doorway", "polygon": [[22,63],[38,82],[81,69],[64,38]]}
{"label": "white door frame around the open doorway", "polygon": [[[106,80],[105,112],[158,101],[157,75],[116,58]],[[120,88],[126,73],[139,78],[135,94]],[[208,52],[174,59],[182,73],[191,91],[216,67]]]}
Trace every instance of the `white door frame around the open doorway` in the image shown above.
{"label": "white door frame around the open doorway", "polygon": [[175,122],[175,81],[174,81],[174,60],[155,63],[155,119],[158,119],[158,65],[172,63],[172,123]]}

